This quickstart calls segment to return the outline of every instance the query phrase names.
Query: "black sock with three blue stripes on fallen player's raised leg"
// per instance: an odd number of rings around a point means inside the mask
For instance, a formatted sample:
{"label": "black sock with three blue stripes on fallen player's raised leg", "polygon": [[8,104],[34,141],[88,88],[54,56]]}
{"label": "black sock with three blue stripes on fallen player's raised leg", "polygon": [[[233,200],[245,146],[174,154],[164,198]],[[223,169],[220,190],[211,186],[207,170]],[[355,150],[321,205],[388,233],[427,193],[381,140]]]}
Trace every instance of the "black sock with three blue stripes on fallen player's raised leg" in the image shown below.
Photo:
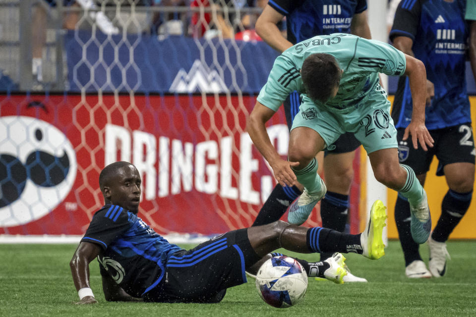
{"label": "black sock with three blue stripes on fallen player's raised leg", "polygon": [[307,230],[307,248],[312,252],[340,252],[362,254],[360,233],[348,234],[332,229],[315,227]]}

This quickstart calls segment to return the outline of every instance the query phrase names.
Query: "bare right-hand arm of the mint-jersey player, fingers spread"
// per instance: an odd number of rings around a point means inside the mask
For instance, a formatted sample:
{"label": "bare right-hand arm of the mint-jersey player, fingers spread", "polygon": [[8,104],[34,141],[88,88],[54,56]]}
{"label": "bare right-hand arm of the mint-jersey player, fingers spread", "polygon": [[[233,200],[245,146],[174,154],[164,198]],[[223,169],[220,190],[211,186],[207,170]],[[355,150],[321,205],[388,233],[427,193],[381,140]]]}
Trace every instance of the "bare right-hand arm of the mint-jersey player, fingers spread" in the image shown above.
{"label": "bare right-hand arm of the mint-jersey player, fingers spread", "polygon": [[413,147],[418,148],[418,142],[425,151],[426,147],[433,147],[433,138],[425,126],[425,100],[426,100],[426,69],[423,62],[415,57],[405,54],[407,68],[405,75],[408,76],[410,90],[413,99],[412,121],[405,129],[403,140],[407,140],[409,134],[412,135]]}

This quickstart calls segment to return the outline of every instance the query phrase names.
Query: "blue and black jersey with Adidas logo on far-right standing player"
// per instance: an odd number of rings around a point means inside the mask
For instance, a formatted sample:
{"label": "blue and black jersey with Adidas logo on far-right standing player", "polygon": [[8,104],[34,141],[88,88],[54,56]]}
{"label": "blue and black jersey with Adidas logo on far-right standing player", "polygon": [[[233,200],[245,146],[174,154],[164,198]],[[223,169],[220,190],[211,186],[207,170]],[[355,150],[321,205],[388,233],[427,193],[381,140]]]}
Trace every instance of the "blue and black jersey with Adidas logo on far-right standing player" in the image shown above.
{"label": "blue and black jersey with Adidas logo on far-right standing player", "polygon": [[[435,86],[435,97],[426,107],[425,124],[430,130],[471,122],[465,79],[465,6],[465,0],[402,0],[395,14],[390,39],[413,40],[415,57],[425,64],[426,77]],[[408,126],[412,109],[408,78],[401,77],[392,110],[397,128]]]}

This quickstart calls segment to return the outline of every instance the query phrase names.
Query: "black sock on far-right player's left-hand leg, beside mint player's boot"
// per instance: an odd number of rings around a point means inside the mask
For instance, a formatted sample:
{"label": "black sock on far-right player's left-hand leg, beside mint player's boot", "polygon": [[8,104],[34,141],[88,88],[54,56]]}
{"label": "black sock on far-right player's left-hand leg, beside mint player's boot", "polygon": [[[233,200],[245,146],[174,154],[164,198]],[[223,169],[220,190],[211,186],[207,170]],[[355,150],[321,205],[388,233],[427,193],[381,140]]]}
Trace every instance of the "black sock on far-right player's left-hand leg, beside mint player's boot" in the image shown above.
{"label": "black sock on far-right player's left-hand leg, beside mint player's boot", "polygon": [[410,217],[410,204],[408,200],[398,194],[397,202],[395,203],[395,222],[405,258],[405,266],[415,260],[421,260],[420,253],[418,252],[419,245],[413,240],[412,232],[410,231]]}

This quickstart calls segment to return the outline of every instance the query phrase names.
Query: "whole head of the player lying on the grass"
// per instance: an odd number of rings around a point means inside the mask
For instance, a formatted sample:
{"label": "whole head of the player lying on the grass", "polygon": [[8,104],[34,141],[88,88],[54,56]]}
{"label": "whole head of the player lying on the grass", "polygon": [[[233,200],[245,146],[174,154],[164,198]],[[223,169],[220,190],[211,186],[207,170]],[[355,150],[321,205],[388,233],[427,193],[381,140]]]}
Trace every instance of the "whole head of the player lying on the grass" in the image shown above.
{"label": "whole head of the player lying on the grass", "polygon": [[132,212],[139,209],[140,182],[137,168],[123,161],[109,164],[99,174],[105,204],[118,205]]}

